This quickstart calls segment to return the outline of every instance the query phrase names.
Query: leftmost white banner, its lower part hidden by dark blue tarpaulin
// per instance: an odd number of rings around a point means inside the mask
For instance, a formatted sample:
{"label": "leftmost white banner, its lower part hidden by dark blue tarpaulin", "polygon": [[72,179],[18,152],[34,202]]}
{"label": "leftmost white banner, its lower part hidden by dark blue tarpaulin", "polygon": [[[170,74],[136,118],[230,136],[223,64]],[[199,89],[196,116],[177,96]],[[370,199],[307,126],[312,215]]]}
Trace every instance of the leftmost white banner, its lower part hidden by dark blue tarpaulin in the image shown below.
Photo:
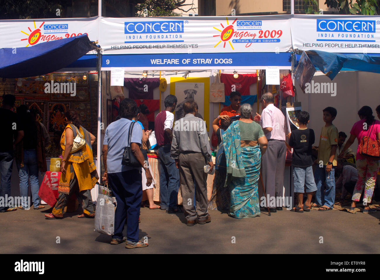
{"label": "leftmost white banner, its lower part hidden by dark blue tarpaulin", "polygon": [[30,47],[82,34],[87,34],[90,41],[97,41],[98,26],[98,17],[0,20],[0,47]]}

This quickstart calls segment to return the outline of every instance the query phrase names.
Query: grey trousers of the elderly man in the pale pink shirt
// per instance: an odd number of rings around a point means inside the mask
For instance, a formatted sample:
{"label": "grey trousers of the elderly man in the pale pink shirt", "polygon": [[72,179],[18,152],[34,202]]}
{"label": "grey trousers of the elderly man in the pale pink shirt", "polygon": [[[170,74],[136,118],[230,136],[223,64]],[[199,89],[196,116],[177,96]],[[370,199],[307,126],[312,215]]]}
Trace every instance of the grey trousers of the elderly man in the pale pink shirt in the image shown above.
{"label": "grey trousers of the elderly man in the pale pink shirt", "polygon": [[[283,196],[283,184],[284,184],[284,170],[286,160],[286,145],[284,141],[270,140],[268,141],[268,148],[261,162],[263,176],[263,184],[265,186],[265,192],[268,197],[275,197],[276,207],[282,207],[277,205],[279,201],[277,197]],[[260,197],[263,196],[259,192]],[[280,200],[282,201],[282,199]],[[266,206],[266,204],[265,204]]]}

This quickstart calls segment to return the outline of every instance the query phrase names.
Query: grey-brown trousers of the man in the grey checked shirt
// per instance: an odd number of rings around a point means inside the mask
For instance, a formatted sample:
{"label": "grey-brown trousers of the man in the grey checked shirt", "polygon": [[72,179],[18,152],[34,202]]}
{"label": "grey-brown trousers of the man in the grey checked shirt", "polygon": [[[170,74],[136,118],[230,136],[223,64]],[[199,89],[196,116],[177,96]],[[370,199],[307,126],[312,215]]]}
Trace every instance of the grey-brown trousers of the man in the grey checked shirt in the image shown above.
{"label": "grey-brown trousers of the man in the grey checked shirt", "polygon": [[[179,179],[182,194],[182,206],[187,220],[205,219],[207,211],[207,173],[203,167],[206,160],[202,153],[180,153]],[[194,209],[194,192],[195,205]]]}

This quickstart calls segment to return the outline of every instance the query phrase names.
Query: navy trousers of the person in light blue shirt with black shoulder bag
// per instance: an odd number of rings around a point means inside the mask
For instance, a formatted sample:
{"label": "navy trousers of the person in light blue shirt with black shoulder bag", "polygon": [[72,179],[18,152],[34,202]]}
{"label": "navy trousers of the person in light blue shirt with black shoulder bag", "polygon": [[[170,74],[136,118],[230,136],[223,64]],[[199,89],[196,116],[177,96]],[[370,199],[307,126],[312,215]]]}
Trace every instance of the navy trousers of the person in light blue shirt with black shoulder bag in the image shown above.
{"label": "navy trousers of the person in light blue shirt with black shoulder bag", "polygon": [[[145,176],[145,174],[143,176]],[[123,239],[124,224],[125,221],[127,221],[127,240],[138,242],[142,198],[141,171],[132,169],[117,173],[108,173],[108,184],[117,202],[115,231],[112,238]]]}

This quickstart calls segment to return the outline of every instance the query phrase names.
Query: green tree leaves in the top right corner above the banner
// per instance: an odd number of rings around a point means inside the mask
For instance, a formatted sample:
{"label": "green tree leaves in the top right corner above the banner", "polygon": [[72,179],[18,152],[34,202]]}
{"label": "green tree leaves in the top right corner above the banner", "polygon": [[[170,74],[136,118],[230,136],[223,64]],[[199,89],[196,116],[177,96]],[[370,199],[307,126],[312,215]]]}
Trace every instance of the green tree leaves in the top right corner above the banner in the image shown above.
{"label": "green tree leaves in the top right corner above the banner", "polygon": [[328,8],[337,9],[339,14],[373,16],[380,14],[378,0],[326,0]]}

